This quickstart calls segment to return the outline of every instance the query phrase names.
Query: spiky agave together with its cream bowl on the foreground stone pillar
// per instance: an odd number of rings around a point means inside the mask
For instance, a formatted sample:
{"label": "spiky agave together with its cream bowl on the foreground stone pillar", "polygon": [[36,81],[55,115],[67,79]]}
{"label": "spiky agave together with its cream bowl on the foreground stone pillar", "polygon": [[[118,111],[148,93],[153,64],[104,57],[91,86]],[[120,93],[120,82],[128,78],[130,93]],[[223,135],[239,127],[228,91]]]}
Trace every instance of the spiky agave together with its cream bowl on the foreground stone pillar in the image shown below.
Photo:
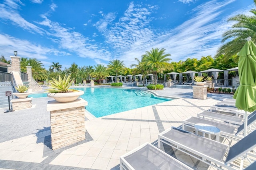
{"label": "spiky agave together with its cream bowl on the foreground stone pillar", "polygon": [[48,89],[49,93],[47,96],[49,98],[54,98],[57,102],[73,102],[79,96],[84,94],[84,91],[82,90],[68,89],[73,82],[73,79],[70,79],[70,75],[65,75],[63,79],[59,76],[59,80],[56,80],[55,78],[52,78],[52,80],[53,83],[50,86],[51,89]]}

